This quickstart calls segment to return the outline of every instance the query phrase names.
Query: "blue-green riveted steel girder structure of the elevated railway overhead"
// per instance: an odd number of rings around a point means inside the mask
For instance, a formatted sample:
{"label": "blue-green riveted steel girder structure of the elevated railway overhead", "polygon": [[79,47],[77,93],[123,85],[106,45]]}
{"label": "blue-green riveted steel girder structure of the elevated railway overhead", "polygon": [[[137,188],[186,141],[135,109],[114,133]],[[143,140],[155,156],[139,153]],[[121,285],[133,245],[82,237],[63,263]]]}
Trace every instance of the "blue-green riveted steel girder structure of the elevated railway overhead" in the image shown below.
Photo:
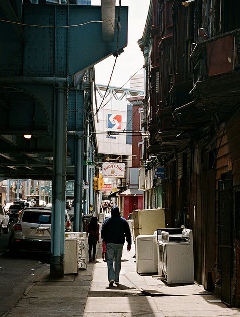
{"label": "blue-green riveted steel girder structure of the elevated railway overhead", "polygon": [[[0,6],[0,18],[54,27],[102,20],[101,7],[23,3],[21,15],[16,14],[14,19],[6,6]],[[6,5],[9,4],[6,1]],[[117,13],[118,10],[116,8]],[[127,8],[121,7],[120,12],[118,50],[127,44]],[[74,85],[81,82],[84,69],[117,50],[117,33],[113,42],[104,42],[102,23],[59,29],[16,28],[2,21],[0,25],[0,38],[4,43],[0,53],[0,175],[2,178],[51,179],[49,158],[53,155],[57,82],[65,81],[69,89],[68,130],[82,132],[84,94]],[[31,140],[22,137],[26,133],[32,134]],[[73,139],[72,135],[68,136],[68,179],[74,178]]]}

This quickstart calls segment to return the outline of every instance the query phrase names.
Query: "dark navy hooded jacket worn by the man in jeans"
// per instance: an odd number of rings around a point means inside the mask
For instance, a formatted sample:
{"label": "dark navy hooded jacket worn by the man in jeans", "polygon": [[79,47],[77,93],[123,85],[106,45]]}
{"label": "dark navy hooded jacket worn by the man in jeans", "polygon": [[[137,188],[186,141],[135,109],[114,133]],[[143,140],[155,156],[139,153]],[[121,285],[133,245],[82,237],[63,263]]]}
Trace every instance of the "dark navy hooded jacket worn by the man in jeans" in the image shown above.
{"label": "dark navy hooded jacket worn by the man in jeans", "polygon": [[105,243],[124,244],[125,239],[131,246],[131,232],[126,219],[120,216],[118,206],[113,206],[111,209],[111,217],[107,218],[102,224],[101,231],[102,240]]}

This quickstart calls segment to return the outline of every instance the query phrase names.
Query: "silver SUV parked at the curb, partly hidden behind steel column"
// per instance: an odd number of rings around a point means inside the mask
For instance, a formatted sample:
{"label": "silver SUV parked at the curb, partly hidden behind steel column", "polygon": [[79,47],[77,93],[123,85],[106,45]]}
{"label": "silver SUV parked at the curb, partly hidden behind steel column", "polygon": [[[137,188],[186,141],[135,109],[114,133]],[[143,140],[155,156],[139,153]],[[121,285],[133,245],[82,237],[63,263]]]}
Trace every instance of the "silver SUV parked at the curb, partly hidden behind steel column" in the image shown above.
{"label": "silver SUV parked at the curb, partly hidden behind steel column", "polygon": [[[24,209],[13,225],[9,237],[10,252],[24,250],[50,251],[52,210],[44,207]],[[70,217],[65,211],[65,230],[71,231]]]}

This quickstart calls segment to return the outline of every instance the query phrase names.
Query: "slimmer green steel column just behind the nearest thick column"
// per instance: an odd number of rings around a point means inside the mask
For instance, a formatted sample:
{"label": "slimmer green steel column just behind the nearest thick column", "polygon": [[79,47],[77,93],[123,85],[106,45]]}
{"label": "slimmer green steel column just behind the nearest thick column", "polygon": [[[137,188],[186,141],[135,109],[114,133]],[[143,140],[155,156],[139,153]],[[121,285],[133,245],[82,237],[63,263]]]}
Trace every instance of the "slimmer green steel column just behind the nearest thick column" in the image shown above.
{"label": "slimmer green steel column just behind the nearest thick column", "polygon": [[82,199],[83,199],[83,133],[78,132],[75,137],[76,162],[74,182],[74,232],[82,231]]}

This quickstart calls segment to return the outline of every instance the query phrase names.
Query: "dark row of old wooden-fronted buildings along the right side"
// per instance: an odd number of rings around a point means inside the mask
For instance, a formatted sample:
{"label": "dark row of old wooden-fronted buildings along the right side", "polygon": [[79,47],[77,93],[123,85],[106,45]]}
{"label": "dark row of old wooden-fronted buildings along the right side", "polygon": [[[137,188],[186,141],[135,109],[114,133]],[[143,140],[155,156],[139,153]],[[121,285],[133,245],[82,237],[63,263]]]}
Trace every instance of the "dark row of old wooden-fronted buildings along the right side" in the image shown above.
{"label": "dark row of old wooden-fronted buildings along the right side", "polygon": [[[194,233],[195,279],[240,307],[240,2],[151,0],[144,207]],[[152,180],[154,166],[164,166]],[[150,184],[150,185],[149,185]]]}

